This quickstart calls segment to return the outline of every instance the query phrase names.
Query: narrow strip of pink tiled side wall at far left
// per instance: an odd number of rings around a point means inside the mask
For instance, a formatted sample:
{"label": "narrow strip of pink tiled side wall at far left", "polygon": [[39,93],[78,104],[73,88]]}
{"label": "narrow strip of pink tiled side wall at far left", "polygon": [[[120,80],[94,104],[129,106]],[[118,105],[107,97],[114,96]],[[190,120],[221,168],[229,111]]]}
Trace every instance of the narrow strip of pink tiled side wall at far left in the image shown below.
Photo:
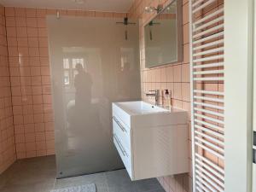
{"label": "narrow strip of pink tiled side wall at far left", "polygon": [[4,8],[0,5],[0,173],[16,159]]}

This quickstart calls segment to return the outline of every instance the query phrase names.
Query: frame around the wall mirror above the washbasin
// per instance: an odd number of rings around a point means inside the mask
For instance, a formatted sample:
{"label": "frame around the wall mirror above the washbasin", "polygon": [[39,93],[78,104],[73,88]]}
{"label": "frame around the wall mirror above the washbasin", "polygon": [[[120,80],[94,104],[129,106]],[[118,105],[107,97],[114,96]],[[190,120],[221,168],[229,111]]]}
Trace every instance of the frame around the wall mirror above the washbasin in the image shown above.
{"label": "frame around the wall mirror above the washbasin", "polygon": [[[145,35],[145,27],[148,26],[148,24],[155,20],[160,14],[162,14],[168,6],[172,5],[172,3],[177,2],[177,60],[176,61],[170,61],[167,63],[158,63],[154,66],[148,67],[147,66],[147,58],[146,58],[146,35]],[[148,20],[147,23],[143,25],[143,45],[144,45],[144,58],[145,58],[145,67],[146,68],[154,68],[154,67],[161,67],[165,65],[170,65],[174,63],[179,63],[183,61],[183,1],[182,0],[172,0],[171,3],[167,3],[164,5],[164,8],[161,9],[159,12],[157,12],[156,15],[154,15],[153,18]]]}

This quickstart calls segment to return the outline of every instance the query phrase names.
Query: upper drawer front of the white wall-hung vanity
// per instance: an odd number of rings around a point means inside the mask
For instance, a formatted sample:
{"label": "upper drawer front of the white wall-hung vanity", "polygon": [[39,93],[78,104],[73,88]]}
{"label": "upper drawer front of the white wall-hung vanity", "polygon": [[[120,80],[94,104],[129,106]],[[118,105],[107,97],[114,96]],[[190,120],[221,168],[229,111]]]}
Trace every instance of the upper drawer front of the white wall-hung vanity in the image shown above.
{"label": "upper drawer front of the white wall-hung vanity", "polygon": [[118,119],[113,117],[113,133],[116,134],[120,143],[122,143],[125,150],[131,154],[131,134],[130,129],[125,128]]}

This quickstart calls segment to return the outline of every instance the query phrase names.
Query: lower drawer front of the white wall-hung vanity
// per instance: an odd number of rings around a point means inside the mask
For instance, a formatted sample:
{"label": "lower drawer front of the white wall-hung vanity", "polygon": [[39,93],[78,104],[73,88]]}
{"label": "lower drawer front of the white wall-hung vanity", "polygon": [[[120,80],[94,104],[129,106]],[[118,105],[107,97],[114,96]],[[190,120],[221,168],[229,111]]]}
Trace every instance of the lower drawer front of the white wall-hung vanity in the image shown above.
{"label": "lower drawer front of the white wall-hung vanity", "polygon": [[131,154],[126,152],[125,148],[122,146],[122,143],[120,143],[120,138],[115,133],[113,133],[113,143],[117,148],[125,168],[131,177]]}

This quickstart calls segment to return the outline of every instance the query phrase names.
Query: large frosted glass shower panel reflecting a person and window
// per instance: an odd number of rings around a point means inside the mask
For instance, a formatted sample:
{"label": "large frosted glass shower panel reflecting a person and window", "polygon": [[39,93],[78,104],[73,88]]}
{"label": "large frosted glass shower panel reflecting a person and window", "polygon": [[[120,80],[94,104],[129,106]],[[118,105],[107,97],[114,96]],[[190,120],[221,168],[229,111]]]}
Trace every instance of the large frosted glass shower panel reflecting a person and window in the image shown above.
{"label": "large frosted glass shower panel reflecting a person and window", "polygon": [[57,177],[124,167],[113,147],[111,103],[140,99],[138,26],[117,21],[47,18]]}

